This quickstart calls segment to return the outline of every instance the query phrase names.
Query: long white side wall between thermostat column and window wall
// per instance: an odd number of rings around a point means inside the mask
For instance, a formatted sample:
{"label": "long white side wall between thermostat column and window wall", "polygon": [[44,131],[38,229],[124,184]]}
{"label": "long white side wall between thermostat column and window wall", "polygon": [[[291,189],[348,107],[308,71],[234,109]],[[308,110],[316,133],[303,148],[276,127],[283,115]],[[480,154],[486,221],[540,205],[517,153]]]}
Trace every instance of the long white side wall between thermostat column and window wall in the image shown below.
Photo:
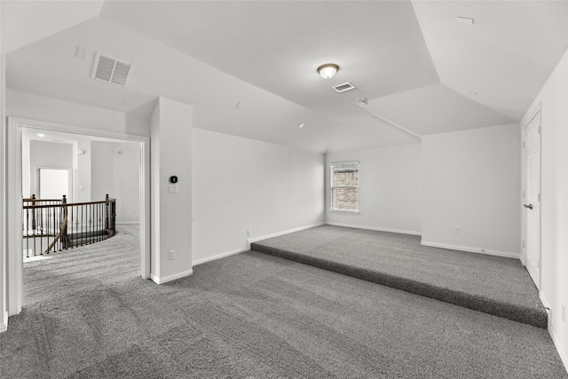
{"label": "long white side wall between thermostat column and window wall", "polygon": [[196,128],[192,151],[193,265],[323,222],[322,154]]}

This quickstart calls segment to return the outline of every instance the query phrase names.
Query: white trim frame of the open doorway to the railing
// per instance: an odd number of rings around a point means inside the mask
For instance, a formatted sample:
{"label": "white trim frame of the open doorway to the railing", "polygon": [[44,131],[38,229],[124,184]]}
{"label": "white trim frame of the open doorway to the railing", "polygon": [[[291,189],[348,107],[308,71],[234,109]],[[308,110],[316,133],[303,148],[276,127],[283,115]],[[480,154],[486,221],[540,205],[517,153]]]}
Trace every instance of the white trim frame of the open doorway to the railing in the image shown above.
{"label": "white trim frame of the open doorway to the railing", "polygon": [[134,134],[95,130],[56,122],[43,122],[20,117],[8,117],[6,146],[8,162],[6,178],[6,213],[7,219],[13,222],[6,225],[8,240],[7,265],[8,273],[7,308],[10,316],[21,312],[23,303],[23,242],[21,238],[21,132],[22,128],[51,130],[69,134],[91,137],[121,139],[137,142],[140,145],[140,276],[150,277],[150,138]]}

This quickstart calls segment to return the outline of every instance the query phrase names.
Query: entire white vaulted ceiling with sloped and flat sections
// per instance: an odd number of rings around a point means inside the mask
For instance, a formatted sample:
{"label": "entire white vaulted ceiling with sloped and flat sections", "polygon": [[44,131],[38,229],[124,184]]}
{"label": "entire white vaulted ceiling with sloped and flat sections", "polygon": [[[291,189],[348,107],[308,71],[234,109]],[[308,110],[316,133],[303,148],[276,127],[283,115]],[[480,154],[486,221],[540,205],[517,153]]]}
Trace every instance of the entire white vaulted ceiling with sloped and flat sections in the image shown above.
{"label": "entire white vaulted ceiling with sloped and flat sections", "polygon": [[[195,127],[316,152],[519,122],[568,47],[566,1],[1,6],[9,88],[143,116],[165,96]],[[134,65],[127,88],[91,80],[96,51]]]}

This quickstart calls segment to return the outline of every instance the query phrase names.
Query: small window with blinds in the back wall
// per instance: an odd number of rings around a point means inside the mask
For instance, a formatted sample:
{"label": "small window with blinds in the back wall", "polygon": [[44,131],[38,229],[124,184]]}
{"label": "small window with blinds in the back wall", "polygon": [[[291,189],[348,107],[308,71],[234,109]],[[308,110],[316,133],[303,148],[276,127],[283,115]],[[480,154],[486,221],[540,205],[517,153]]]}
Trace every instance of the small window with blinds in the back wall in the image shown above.
{"label": "small window with blinds in the back wall", "polygon": [[359,212],[359,162],[331,163],[331,210]]}

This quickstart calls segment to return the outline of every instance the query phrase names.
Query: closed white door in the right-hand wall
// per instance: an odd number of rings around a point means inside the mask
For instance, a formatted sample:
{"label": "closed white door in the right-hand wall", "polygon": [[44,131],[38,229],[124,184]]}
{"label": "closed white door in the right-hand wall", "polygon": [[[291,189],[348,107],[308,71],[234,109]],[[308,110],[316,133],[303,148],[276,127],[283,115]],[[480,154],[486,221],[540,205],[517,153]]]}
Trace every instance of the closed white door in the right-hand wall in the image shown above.
{"label": "closed white door in the right-hand wall", "polygon": [[540,110],[525,126],[523,134],[525,161],[523,247],[526,269],[531,274],[536,287],[540,289]]}

